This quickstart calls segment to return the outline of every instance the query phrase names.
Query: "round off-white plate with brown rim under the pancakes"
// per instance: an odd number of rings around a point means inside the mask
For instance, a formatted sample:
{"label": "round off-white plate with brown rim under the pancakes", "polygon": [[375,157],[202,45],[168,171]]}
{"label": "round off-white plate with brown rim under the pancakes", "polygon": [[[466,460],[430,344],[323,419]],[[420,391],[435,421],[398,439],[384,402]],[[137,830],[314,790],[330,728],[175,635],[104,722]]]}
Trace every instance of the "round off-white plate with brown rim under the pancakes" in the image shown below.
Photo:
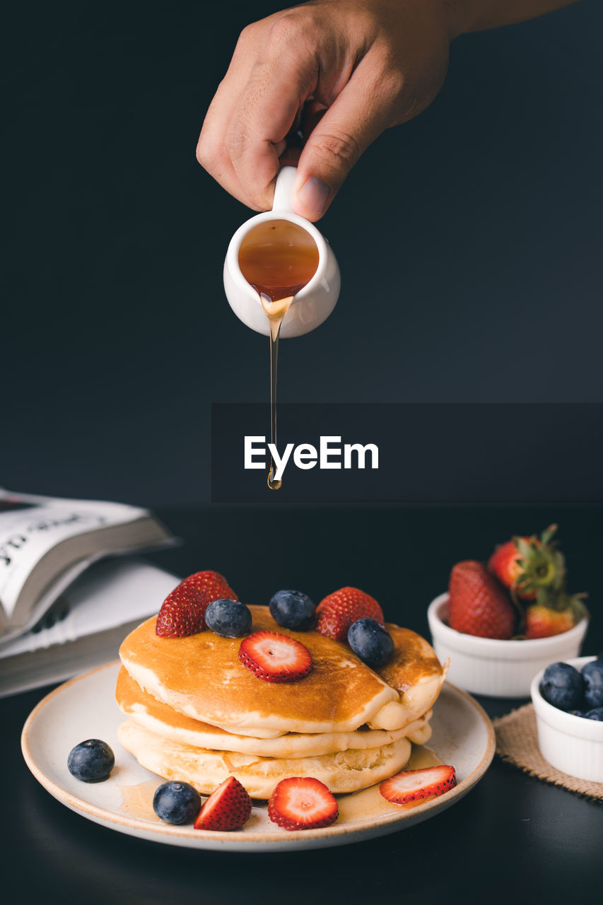
{"label": "round off-white plate with brown rim under the pancakes", "polygon": [[[154,842],[231,852],[278,852],[345,845],[394,833],[455,805],[483,776],[494,754],[490,720],[477,701],[445,682],[434,708],[429,747],[456,770],[458,785],[445,795],[413,805],[392,805],[378,786],[340,795],[340,819],[321,830],[288,832],[268,819],[266,805],[235,833],[211,833],[191,825],[172,826],[156,817],[153,793],[163,779],[149,773],[121,748],[117,729],[123,719],[114,699],[119,662],[107,663],[65,682],[29,715],[22,748],[27,766],[51,795],[94,823]],[[67,756],[86,738],[102,738],[115,752],[116,764],[104,783],[87,784],[67,769]],[[421,766],[422,748],[413,757]]]}

